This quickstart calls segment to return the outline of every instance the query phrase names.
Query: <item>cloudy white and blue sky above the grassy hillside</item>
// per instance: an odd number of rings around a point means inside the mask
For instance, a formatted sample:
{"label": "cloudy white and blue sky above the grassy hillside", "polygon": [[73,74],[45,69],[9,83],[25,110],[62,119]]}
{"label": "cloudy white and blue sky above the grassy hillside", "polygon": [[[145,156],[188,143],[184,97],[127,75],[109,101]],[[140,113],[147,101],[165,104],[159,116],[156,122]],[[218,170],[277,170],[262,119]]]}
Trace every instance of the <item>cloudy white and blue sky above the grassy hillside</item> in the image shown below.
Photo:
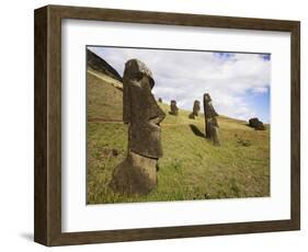
{"label": "cloudy white and blue sky above the grassy hillside", "polygon": [[123,75],[132,58],[152,71],[156,98],[192,110],[209,93],[218,114],[270,123],[271,55],[226,51],[162,50],[119,47],[88,47]]}

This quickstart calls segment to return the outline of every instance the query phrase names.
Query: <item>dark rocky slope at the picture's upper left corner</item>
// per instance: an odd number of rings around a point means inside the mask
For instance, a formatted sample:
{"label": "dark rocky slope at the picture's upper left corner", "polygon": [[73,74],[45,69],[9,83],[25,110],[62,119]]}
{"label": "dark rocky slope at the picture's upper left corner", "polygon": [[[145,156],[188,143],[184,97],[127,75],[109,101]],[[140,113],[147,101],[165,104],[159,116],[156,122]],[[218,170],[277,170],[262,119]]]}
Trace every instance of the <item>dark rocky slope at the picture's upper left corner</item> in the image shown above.
{"label": "dark rocky slope at the picture's upper left corner", "polygon": [[122,77],[118,75],[118,72],[99,55],[89,49],[87,49],[87,62],[88,67],[92,68],[93,70],[100,71],[122,82]]}

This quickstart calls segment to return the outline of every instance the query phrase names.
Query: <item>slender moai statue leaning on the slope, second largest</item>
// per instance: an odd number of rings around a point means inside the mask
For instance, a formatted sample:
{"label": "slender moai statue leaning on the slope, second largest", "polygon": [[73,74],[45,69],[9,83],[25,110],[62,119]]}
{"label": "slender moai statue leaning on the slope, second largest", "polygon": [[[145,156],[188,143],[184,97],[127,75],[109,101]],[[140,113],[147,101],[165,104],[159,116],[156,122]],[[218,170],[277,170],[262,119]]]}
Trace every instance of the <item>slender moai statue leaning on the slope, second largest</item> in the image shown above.
{"label": "slender moai statue leaning on the slope, second largest", "polygon": [[204,119],[205,119],[205,137],[210,139],[216,146],[219,146],[219,133],[218,133],[218,114],[212,105],[212,99],[208,93],[203,95],[203,106],[204,106]]}

